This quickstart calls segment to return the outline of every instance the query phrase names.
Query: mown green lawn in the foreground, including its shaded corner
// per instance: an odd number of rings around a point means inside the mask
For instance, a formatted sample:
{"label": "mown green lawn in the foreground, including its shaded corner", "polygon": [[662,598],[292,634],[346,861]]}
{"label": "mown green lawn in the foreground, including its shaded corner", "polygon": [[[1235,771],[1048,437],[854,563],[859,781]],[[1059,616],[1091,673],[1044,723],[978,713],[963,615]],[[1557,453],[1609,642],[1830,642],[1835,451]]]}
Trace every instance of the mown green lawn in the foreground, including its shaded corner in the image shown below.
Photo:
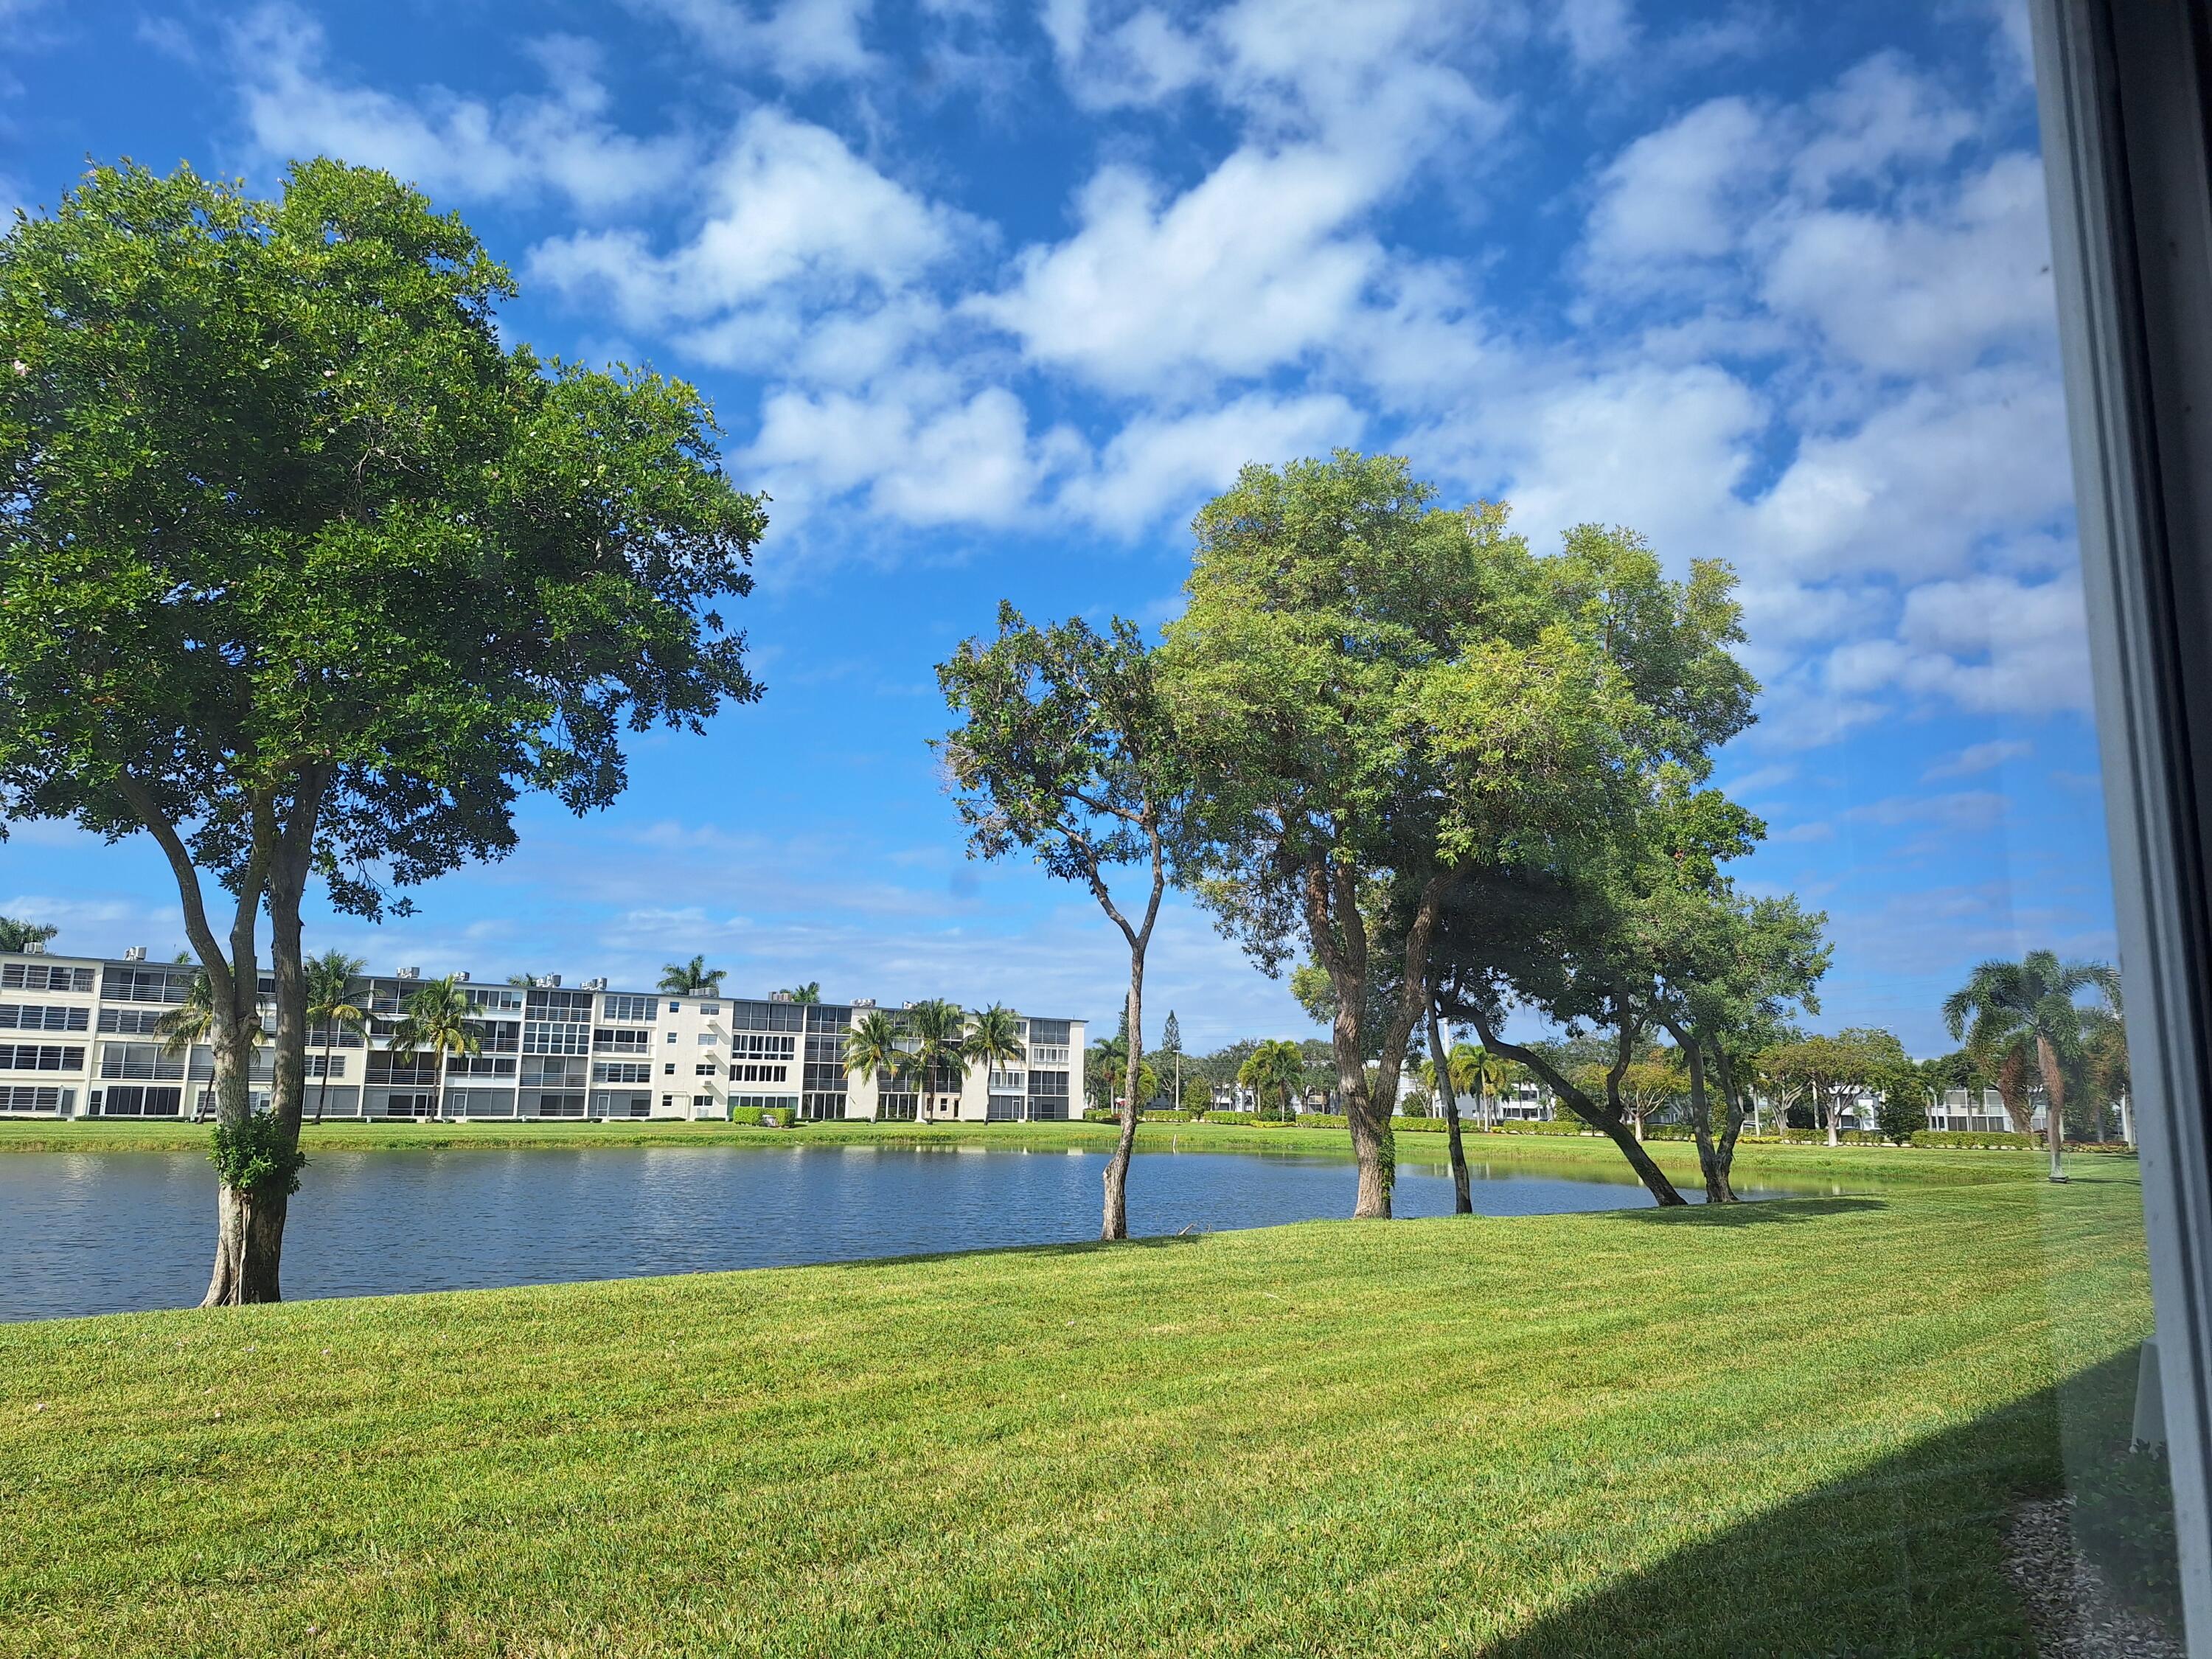
{"label": "mown green lawn in the foreground, including its shaded corner", "polygon": [[1874,1194],[0,1327],[0,1652],[2028,1652],[2132,1166],[1809,1150]]}

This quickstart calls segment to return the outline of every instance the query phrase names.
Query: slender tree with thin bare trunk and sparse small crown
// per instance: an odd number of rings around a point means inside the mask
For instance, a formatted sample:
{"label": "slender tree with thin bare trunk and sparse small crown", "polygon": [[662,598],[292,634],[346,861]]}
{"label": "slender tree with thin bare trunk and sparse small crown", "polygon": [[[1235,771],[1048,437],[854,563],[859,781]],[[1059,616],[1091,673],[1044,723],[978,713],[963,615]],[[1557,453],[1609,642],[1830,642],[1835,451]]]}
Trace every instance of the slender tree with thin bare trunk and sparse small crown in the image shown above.
{"label": "slender tree with thin bare trunk and sparse small crown", "polygon": [[[1102,1239],[1128,1237],[1128,1161],[1144,1106],[1144,960],[1175,865],[1188,768],[1155,653],[1135,622],[1033,626],[1011,604],[998,637],[969,639],[938,666],[960,719],[938,741],[969,856],[1031,854],[1082,883],[1128,947],[1121,1002],[1121,1135],[1106,1159]],[[1113,872],[1135,867],[1135,896]]]}

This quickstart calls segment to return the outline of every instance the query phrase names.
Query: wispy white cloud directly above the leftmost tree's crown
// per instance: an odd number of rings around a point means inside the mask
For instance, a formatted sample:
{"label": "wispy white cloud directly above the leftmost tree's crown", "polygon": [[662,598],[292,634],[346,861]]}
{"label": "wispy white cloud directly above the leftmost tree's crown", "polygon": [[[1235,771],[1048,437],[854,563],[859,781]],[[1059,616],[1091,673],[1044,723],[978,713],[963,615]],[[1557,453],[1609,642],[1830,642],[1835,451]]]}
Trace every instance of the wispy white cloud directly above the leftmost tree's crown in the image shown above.
{"label": "wispy white cloud directly above the leftmost tree's crown", "polygon": [[254,146],[272,159],[336,155],[380,166],[431,195],[511,197],[538,190],[604,210],[670,188],[690,146],[639,139],[606,119],[595,49],[535,44],[549,91],[489,104],[442,86],[416,102],[336,84],[323,29],[290,4],[252,11],[230,35]]}

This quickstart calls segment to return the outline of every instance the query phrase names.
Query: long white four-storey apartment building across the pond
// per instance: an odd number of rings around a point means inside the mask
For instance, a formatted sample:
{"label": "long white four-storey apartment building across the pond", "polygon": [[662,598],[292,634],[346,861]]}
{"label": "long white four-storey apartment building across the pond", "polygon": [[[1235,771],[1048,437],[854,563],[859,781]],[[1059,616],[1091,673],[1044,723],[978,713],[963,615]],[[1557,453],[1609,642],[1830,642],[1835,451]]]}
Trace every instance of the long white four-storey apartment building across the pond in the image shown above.
{"label": "long white four-storey apartment building across the pond", "polygon": [[[164,1013],[186,1002],[197,969],[122,958],[0,953],[0,1115],[190,1117],[210,1108],[215,1055],[168,1053]],[[352,1000],[367,1031],[312,1031],[310,1117],[542,1119],[728,1117],[732,1106],[785,1106],[799,1117],[920,1121],[1057,1121],[1079,1115],[1084,1022],[1022,1018],[1026,1057],[1004,1071],[945,1068],[929,1088],[845,1071],[845,1033],[872,1000],[794,1002],[615,991],[606,980],[473,984],[480,1053],[438,1057],[392,1046],[416,969],[369,975]],[[263,1018],[274,982],[261,978]],[[889,1011],[898,1018],[898,1009]],[[254,1104],[268,1104],[270,1051],[252,1060]]]}

